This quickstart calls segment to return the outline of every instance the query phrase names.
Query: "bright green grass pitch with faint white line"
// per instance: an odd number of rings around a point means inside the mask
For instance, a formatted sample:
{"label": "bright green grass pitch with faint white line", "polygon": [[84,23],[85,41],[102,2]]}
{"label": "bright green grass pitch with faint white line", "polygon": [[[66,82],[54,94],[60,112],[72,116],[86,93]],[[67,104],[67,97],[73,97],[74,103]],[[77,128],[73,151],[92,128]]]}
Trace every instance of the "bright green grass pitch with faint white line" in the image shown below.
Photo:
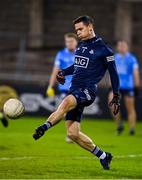
{"label": "bright green grass pitch with faint white line", "polygon": [[32,133],[43,122],[44,118],[24,117],[10,121],[8,128],[0,124],[1,179],[142,179],[142,123],[131,137],[127,124],[116,136],[113,121],[82,121],[82,131],[114,156],[111,170],[105,171],[91,153],[65,142],[64,122],[34,141]]}

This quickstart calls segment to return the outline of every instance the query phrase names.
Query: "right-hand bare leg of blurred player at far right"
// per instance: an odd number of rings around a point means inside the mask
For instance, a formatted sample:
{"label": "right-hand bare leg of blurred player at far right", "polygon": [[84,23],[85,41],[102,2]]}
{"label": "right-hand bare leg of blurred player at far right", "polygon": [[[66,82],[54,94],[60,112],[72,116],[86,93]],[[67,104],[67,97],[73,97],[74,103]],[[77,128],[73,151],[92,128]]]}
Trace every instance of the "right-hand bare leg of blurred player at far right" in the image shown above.
{"label": "right-hand bare leg of blurred player at far right", "polygon": [[135,99],[132,96],[124,97],[125,106],[127,109],[128,122],[130,127],[130,134],[134,135],[136,126],[136,110],[135,110]]}

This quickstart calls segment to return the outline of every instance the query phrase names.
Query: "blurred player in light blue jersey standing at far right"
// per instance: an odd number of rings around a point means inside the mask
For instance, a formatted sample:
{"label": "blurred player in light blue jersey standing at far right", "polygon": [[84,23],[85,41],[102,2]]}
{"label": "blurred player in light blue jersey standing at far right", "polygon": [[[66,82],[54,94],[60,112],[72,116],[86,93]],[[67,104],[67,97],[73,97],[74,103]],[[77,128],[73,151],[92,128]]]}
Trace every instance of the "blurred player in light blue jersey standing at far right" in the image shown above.
{"label": "blurred player in light blue jersey standing at far right", "polygon": [[[135,133],[136,110],[135,96],[138,95],[140,86],[139,66],[136,57],[129,52],[126,41],[118,41],[117,51],[115,54],[116,67],[120,79],[120,93],[124,98],[125,108],[127,111],[130,135]],[[109,100],[112,98],[112,92],[109,93]],[[114,117],[117,123],[117,134],[121,134],[124,127],[121,114]]]}

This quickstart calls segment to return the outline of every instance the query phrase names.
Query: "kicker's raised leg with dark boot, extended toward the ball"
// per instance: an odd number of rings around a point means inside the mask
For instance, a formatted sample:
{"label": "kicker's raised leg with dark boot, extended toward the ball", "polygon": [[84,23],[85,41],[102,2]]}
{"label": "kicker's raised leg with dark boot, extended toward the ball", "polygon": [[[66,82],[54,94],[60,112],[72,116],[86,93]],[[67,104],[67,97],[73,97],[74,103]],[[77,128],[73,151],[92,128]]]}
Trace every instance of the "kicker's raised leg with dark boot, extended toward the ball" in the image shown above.
{"label": "kicker's raised leg with dark boot, extended toward the ball", "polygon": [[73,108],[75,108],[77,105],[76,99],[73,95],[68,95],[59,105],[59,107],[57,108],[57,110],[55,112],[53,112],[49,118],[47,119],[47,121],[45,122],[45,124],[39,126],[36,130],[35,133],[33,134],[33,138],[35,140],[39,139],[40,137],[42,137],[45,133],[45,131],[47,131],[49,128],[51,128],[52,126],[54,126],[55,124],[57,124],[63,117],[64,115],[72,110]]}

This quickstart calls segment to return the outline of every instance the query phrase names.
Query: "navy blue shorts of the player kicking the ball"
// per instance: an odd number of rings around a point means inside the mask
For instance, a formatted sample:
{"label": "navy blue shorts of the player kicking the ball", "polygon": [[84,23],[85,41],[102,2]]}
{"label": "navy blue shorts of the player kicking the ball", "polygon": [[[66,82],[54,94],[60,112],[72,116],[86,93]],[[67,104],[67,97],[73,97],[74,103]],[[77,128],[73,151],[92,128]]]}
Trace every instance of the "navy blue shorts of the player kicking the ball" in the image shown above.
{"label": "navy blue shorts of the player kicking the ball", "polygon": [[96,98],[97,88],[79,88],[69,92],[77,100],[77,106],[66,114],[66,120],[80,122],[83,114],[84,107],[91,105]]}

